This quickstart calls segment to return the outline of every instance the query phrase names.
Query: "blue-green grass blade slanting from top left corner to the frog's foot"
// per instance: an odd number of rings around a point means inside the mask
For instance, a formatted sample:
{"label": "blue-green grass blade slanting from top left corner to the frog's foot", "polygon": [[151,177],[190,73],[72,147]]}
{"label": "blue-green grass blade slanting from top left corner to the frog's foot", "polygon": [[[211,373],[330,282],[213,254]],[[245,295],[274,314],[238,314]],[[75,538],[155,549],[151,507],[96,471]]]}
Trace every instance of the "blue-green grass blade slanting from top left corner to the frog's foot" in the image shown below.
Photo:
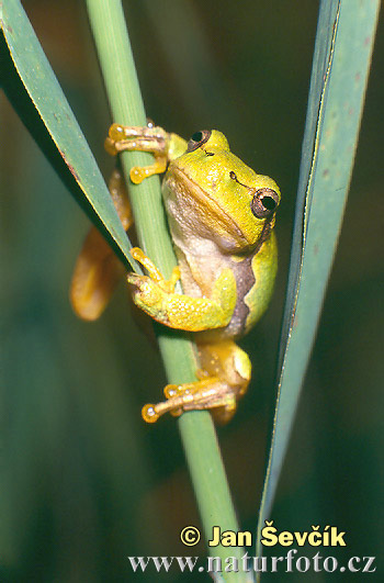
{"label": "blue-green grass blade slanting from top left corner to the frog's foot", "polygon": [[30,128],[33,119],[34,137],[91,221],[101,228],[122,260],[137,267],[129,256],[129,240],[99,167],[19,0],[2,4],[0,24],[22,81],[19,85],[15,82],[10,65],[2,81],[12,103]]}

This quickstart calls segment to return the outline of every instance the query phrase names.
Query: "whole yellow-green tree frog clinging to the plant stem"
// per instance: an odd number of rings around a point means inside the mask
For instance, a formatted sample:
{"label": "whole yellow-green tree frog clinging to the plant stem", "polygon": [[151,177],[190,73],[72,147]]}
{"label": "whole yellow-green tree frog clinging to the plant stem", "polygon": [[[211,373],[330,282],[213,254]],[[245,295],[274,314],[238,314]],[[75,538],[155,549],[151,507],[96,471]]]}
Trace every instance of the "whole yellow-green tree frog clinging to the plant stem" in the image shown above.
{"label": "whole yellow-green tree frog clinging to the plant stem", "polygon": [[[193,134],[187,143],[161,127],[113,124],[105,147],[151,152],[155,164],[131,170],[131,180],[166,171],[163,204],[178,259],[166,280],[142,249],[132,255],[147,276],[128,273],[135,304],[157,322],[194,333],[199,380],[167,385],[166,401],[143,408],[146,422],[170,412],[210,410],[228,421],[251,377],[248,355],[235,340],[266,311],[276,265],[273,232],[280,190],[229,149],[216,130]],[[168,167],[168,169],[167,169]],[[126,192],[113,175],[110,191],[125,229],[132,224]],[[71,301],[83,318],[94,319],[106,304],[121,272],[117,259],[93,228],[75,268]],[[181,279],[183,293],[174,290]]]}

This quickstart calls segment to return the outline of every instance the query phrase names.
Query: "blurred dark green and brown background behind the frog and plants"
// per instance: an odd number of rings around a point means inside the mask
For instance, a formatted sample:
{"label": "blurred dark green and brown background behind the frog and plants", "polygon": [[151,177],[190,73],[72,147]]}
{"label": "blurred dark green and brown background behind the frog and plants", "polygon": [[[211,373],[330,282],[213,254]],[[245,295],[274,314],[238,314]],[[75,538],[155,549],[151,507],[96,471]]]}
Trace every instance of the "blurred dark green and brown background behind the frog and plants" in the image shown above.
{"label": "blurred dark green and brown background behind the frog and plants", "polygon": [[[113,161],[102,145],[111,119],[82,2],[23,4],[108,178]],[[252,384],[235,419],[218,430],[241,527],[255,530],[318,5],[125,7],[147,114],[184,137],[219,128],[233,152],[283,193],[276,291],[241,344],[252,358]],[[383,68],[381,21],[340,245],[273,511],[281,530],[345,530],[347,547],[321,549],[340,564],[352,556],[379,561],[383,535]],[[135,326],[123,285],[99,322],[72,314],[68,284],[88,220],[3,96],[0,113],[0,579],[140,580],[127,556],[205,552],[179,541],[181,528],[200,523],[177,424],[140,421],[142,405],[165,383],[159,356]],[[208,580],[176,569],[156,576]]]}

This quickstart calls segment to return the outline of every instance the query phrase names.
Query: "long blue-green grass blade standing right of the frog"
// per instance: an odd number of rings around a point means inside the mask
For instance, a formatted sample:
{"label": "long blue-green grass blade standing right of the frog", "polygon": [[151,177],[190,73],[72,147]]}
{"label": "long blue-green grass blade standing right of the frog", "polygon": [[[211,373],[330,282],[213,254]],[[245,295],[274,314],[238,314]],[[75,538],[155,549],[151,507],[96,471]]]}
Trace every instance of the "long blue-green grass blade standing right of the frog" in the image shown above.
{"label": "long blue-green grass blade standing right of the frog", "polygon": [[374,0],[320,4],[258,545],[264,519],[270,518],[341,227],[379,7]]}

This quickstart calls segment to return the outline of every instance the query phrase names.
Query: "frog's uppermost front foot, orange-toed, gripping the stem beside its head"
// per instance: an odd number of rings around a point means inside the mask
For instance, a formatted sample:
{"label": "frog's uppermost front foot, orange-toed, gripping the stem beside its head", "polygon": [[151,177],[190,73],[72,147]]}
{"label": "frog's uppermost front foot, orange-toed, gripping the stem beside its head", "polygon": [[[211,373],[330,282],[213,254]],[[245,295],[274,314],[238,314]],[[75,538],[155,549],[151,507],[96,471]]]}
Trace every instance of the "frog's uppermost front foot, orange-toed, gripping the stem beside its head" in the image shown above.
{"label": "frog's uppermost front foot, orange-toed, gripping the stem beside its head", "polygon": [[136,127],[114,123],[105,139],[105,149],[112,156],[124,150],[150,152],[155,162],[150,166],[134,166],[131,169],[131,180],[139,184],[145,178],[166,171],[168,162],[169,134],[162,127],[153,125]]}

